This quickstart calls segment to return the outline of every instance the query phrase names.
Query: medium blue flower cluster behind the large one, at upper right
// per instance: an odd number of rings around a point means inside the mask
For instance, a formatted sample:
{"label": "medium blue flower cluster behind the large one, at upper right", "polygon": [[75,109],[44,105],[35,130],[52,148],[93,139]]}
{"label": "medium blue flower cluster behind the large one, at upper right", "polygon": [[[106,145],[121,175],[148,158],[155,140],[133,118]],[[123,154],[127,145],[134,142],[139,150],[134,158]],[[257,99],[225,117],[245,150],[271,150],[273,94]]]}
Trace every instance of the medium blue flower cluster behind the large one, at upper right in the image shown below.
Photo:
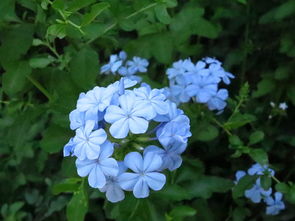
{"label": "medium blue flower cluster behind the large one, at upper right", "polygon": [[179,60],[168,68],[166,74],[170,86],[169,98],[176,103],[186,103],[190,99],[207,104],[209,110],[222,111],[226,106],[228,91],[219,89],[218,84],[230,84],[234,78],[226,72],[222,63],[214,58],[203,58],[194,64],[190,59]]}

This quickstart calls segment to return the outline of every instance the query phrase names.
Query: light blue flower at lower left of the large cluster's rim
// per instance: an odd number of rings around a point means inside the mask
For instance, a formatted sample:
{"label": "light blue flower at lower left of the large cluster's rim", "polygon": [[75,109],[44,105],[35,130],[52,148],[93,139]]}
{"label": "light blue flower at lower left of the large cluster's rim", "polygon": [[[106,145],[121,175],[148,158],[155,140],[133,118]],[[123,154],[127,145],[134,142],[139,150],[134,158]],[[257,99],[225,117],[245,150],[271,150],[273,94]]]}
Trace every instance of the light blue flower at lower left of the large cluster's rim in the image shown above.
{"label": "light blue flower at lower left of the large cluster's rim", "polygon": [[88,183],[93,188],[102,188],[106,185],[106,176],[117,176],[119,169],[115,159],[110,158],[114,152],[113,144],[106,141],[101,145],[97,159],[76,160],[79,176],[88,176]]}

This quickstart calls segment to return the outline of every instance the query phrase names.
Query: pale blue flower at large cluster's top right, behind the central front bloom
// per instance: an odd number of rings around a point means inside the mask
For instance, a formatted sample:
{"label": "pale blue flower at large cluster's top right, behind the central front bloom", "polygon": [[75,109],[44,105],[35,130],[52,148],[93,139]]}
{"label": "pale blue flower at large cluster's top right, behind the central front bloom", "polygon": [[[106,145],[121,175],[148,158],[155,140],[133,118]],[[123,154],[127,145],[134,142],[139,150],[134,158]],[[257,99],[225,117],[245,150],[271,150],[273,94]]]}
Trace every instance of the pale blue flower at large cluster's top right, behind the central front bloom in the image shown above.
{"label": "pale blue flower at large cluster's top right, behind the central front bloom", "polygon": [[[157,114],[164,115],[168,112],[168,105],[165,102],[166,96],[159,89],[149,87],[135,88],[134,93],[142,105],[147,106],[147,111],[151,113],[151,119]],[[148,119],[150,120],[150,119]]]}

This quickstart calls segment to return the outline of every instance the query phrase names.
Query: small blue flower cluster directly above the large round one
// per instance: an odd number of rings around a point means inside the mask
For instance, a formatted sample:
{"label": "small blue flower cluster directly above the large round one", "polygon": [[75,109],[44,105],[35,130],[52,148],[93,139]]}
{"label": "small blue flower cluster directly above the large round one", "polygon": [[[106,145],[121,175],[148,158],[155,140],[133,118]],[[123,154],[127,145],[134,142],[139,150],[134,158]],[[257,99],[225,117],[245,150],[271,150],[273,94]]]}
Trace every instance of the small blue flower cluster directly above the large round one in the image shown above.
{"label": "small blue flower cluster directly above the large round one", "polygon": [[134,56],[132,60],[127,60],[126,52],[121,51],[119,54],[112,54],[109,63],[103,65],[100,72],[105,74],[118,73],[122,77],[140,82],[141,77],[136,76],[135,74],[138,72],[147,72],[148,65],[149,62],[146,59],[137,56]]}

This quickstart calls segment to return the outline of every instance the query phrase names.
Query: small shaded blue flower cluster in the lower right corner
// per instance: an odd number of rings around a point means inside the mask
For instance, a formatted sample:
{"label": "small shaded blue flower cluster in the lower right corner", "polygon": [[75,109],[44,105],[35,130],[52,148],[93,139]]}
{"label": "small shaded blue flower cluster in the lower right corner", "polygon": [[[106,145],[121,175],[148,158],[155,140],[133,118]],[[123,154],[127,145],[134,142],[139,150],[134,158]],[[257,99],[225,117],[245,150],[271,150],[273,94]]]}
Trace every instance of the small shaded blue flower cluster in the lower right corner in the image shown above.
{"label": "small shaded blue flower cluster in the lower right corner", "polygon": [[[236,181],[237,184],[239,180],[244,177],[245,175],[267,175],[267,176],[274,176],[274,170],[268,168],[266,165],[262,166],[260,164],[254,164],[250,169],[248,169],[247,173],[245,171],[237,171],[236,172]],[[277,215],[283,209],[285,209],[285,204],[282,201],[282,193],[276,192],[274,197],[271,196],[272,188],[265,190],[261,186],[261,179],[260,177],[257,178],[255,184],[252,188],[245,191],[245,197],[250,199],[253,203],[260,203],[262,200],[266,203],[266,214],[268,215]]]}

